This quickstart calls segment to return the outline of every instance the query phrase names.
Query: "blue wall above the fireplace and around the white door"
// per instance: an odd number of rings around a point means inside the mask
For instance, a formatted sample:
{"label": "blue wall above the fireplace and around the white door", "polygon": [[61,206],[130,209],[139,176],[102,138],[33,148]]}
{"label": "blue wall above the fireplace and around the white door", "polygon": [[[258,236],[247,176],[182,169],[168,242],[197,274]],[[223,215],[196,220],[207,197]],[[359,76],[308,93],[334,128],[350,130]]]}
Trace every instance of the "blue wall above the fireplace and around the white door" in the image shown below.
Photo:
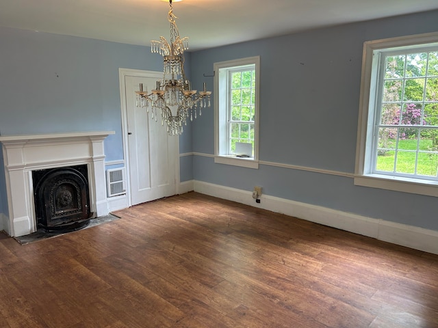
{"label": "blue wall above the fireplace and around the white door", "polygon": [[[106,161],[123,159],[118,68],[162,71],[161,56],[149,46],[4,27],[0,44],[1,135],[116,131],[105,139]],[[190,72],[190,54],[185,64]],[[190,124],[187,131],[181,152],[192,149]],[[0,213],[8,215],[0,171]],[[181,176],[191,179],[191,167]]]}

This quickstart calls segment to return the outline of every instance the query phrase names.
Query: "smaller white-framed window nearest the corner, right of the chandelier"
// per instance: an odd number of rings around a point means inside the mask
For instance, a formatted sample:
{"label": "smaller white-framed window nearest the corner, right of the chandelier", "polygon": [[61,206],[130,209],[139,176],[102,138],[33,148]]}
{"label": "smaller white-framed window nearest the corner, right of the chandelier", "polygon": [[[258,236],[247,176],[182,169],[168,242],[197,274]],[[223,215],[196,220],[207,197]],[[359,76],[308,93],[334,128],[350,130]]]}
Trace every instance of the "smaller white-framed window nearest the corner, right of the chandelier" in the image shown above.
{"label": "smaller white-framed window nearest the corner, right of the chandelier", "polygon": [[257,168],[259,57],[214,64],[215,161]]}

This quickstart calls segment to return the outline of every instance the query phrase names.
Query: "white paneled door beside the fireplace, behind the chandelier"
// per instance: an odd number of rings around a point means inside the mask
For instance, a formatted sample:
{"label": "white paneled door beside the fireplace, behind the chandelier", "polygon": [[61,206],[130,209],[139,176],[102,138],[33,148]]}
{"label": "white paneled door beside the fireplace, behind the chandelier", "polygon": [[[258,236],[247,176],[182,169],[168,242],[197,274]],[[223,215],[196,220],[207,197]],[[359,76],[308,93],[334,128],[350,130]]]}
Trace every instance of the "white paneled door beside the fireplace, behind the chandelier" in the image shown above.
{"label": "white paneled door beside the fireplace, behind the chandelier", "polygon": [[[157,77],[125,76],[127,144],[131,205],[175,195],[178,137],[169,136],[158,113],[157,122],[151,111],[136,106],[136,90],[140,83],[153,90]],[[126,144],[126,143],[125,143]]]}

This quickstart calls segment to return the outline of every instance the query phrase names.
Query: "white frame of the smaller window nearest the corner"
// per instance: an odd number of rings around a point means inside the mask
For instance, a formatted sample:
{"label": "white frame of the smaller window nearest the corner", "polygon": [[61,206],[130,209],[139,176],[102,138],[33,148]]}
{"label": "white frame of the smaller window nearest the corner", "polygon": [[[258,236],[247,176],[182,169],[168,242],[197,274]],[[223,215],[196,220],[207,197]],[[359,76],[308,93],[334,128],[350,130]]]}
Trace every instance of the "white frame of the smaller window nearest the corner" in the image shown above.
{"label": "white frame of the smaller window nearest the corner", "polygon": [[[245,66],[255,67],[255,118],[254,118],[254,156],[240,158],[229,154],[229,83],[228,72]],[[215,163],[259,168],[259,81],[260,57],[247,57],[214,63],[214,161]]]}

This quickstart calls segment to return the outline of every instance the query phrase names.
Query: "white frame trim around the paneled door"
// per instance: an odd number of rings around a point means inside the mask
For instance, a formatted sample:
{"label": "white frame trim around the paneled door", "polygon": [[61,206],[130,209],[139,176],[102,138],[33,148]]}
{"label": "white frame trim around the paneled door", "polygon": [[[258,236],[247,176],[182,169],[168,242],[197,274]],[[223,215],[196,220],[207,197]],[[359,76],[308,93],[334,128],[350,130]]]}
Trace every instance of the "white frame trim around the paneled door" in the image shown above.
{"label": "white frame trim around the paneled door", "polygon": [[[126,85],[125,77],[146,77],[155,78],[160,80],[163,78],[163,72],[157,72],[154,70],[134,70],[131,68],[118,68],[118,81],[120,86],[120,109],[122,118],[122,142],[123,142],[123,158],[125,162],[126,169],[126,192],[127,192],[127,204],[132,206],[131,201],[131,172],[130,172],[130,156],[129,156],[129,139],[128,139],[128,109],[126,105]],[[146,109],[145,109],[146,110]],[[159,124],[157,122],[157,124]],[[163,128],[165,128],[163,126]],[[177,139],[176,149],[177,154],[175,154],[175,194],[179,194],[180,188],[180,174],[179,174],[179,137],[173,136]]]}

